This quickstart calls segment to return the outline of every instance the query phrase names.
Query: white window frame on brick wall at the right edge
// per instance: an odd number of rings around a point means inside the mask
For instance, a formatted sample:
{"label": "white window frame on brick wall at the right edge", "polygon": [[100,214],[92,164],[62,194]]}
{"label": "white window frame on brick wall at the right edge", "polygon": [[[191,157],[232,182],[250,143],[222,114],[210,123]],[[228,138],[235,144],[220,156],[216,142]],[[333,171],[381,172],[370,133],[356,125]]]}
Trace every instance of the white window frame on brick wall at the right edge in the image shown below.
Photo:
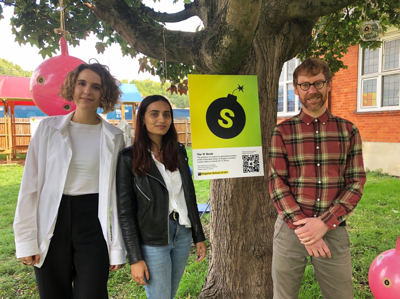
{"label": "white window frame on brick wall at the right edge", "polygon": [[[378,111],[396,111],[400,110],[400,101],[398,106],[382,106],[382,84],[383,76],[400,73],[400,63],[397,69],[383,71],[384,65],[384,47],[386,41],[400,38],[400,30],[389,28],[385,36],[381,37],[382,47],[378,48],[378,72],[362,75],[364,69],[364,49],[358,45],[358,80],[357,80],[357,112],[378,112]],[[362,82],[366,79],[376,79],[376,106],[362,107]]]}

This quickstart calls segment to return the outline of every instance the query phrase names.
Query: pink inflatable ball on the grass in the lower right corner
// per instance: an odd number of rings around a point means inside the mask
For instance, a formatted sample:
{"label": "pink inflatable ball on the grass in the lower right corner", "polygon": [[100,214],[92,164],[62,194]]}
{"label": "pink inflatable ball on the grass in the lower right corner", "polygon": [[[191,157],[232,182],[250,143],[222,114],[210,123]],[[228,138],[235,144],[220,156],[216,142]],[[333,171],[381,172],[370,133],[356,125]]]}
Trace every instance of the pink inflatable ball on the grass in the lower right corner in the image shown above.
{"label": "pink inflatable ball on the grass in the lower right corner", "polygon": [[396,249],[382,252],[372,262],[368,281],[375,299],[400,298],[400,236]]}

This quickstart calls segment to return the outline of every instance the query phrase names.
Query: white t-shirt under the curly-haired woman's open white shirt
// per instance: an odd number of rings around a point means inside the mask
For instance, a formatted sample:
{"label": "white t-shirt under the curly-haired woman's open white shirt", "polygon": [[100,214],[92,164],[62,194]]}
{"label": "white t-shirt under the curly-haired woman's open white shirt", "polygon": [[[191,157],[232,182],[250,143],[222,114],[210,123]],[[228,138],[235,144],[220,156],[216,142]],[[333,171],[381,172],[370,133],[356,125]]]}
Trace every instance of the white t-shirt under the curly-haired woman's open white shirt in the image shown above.
{"label": "white t-shirt under the curly-haired woman's open white shirt", "polygon": [[101,122],[89,125],[71,121],[68,124],[72,156],[63,194],[99,192],[101,130]]}

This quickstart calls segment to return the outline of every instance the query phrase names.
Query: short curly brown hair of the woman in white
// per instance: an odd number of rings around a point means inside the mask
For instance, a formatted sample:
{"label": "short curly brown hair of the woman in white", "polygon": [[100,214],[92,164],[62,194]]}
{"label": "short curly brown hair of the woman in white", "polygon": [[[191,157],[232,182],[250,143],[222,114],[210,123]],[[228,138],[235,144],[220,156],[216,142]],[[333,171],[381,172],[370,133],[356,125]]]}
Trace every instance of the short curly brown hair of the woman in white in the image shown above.
{"label": "short curly brown hair of the woman in white", "polygon": [[103,113],[114,111],[115,106],[120,104],[120,98],[122,95],[119,86],[120,81],[115,79],[111,74],[110,70],[106,65],[100,63],[82,63],[78,65],[73,71],[70,71],[65,77],[64,84],[60,86],[59,96],[62,96],[65,100],[72,102],[76,79],[81,71],[84,69],[90,69],[97,73],[102,81],[102,91],[100,98],[100,108],[103,108]]}

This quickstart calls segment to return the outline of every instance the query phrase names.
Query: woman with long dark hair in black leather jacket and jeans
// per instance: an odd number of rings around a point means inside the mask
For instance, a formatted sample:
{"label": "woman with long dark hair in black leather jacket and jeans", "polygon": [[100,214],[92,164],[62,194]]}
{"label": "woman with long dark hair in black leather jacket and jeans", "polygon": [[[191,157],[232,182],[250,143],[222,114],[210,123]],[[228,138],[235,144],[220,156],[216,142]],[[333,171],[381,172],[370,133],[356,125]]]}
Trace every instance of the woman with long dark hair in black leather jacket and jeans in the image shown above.
{"label": "woman with long dark hair in black leather jacket and jeans", "polygon": [[132,146],[120,152],[117,203],[132,278],[150,299],[172,299],[188,261],[197,262],[205,237],[185,147],[178,142],[171,104],[160,95],[140,103]]}

